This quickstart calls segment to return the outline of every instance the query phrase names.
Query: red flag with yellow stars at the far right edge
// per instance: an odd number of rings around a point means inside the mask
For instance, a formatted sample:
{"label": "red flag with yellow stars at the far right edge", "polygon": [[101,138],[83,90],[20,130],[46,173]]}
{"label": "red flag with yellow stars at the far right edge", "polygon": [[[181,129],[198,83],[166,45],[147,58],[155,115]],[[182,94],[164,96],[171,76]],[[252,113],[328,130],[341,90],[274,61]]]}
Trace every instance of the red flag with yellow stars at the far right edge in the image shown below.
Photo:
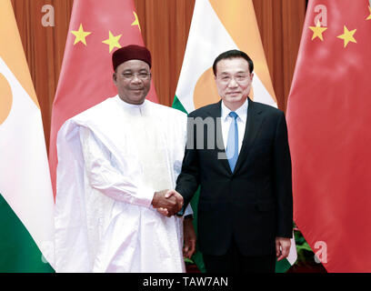
{"label": "red flag with yellow stars at the far right edge", "polygon": [[294,218],[329,272],[371,272],[371,8],[313,0],[287,105]]}

